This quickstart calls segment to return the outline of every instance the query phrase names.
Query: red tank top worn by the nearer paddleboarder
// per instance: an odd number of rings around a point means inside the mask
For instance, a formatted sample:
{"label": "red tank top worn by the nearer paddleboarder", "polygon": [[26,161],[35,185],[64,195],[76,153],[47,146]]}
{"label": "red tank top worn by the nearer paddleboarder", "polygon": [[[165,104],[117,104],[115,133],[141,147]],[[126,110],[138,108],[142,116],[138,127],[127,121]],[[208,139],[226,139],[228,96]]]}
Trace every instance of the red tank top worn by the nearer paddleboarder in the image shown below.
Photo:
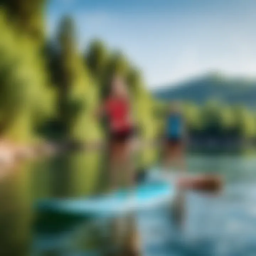
{"label": "red tank top worn by the nearer paddleboarder", "polygon": [[109,98],[105,103],[105,110],[112,131],[122,132],[131,128],[130,104],[128,100]]}

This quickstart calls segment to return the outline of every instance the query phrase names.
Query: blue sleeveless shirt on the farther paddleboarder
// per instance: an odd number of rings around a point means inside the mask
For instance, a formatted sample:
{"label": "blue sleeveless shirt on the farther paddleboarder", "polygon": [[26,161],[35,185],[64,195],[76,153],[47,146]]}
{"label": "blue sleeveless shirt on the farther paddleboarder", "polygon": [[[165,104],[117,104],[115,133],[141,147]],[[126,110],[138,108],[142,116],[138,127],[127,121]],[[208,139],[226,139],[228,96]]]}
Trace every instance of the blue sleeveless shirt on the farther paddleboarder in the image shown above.
{"label": "blue sleeveless shirt on the farther paddleboarder", "polygon": [[167,117],[166,135],[167,138],[182,137],[182,117],[180,114],[170,114]]}

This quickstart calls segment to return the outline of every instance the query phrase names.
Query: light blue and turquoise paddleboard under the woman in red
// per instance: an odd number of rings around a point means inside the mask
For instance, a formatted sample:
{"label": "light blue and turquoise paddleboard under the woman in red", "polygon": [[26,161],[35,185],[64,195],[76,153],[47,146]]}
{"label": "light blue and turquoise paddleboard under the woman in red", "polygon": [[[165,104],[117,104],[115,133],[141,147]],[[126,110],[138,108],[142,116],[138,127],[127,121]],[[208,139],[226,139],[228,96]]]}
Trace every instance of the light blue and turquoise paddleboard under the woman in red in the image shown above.
{"label": "light blue and turquoise paddleboard under the woman in red", "polygon": [[39,202],[37,209],[78,216],[113,217],[164,203],[174,197],[174,192],[170,183],[158,181],[94,198],[47,199]]}

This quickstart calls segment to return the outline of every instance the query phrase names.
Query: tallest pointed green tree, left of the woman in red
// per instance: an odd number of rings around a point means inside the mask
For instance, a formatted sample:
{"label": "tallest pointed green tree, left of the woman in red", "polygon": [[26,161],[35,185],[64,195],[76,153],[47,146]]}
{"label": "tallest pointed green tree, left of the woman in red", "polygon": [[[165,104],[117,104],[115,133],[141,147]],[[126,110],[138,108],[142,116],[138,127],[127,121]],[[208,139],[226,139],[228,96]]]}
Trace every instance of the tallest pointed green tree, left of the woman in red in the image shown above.
{"label": "tallest pointed green tree, left of the woman in red", "polygon": [[[57,67],[59,120],[64,137],[77,140],[94,140],[100,130],[92,115],[98,104],[98,88],[94,86],[88,69],[76,46],[73,20],[64,17],[58,30],[59,54]],[[56,70],[55,70],[56,71]]]}

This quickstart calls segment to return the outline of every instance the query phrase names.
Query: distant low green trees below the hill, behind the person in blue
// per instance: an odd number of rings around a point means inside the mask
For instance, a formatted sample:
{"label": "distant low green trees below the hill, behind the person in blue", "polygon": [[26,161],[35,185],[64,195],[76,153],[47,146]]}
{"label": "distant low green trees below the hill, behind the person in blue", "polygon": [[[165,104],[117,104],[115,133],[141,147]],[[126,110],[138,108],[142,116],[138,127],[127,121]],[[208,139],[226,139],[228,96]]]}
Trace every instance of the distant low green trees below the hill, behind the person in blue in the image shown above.
{"label": "distant low green trees below the hill, behind the person in blue", "polygon": [[[256,145],[256,112],[243,105],[229,105],[209,100],[201,105],[193,102],[180,102],[186,123],[186,134],[191,143],[206,144],[209,141],[217,146],[241,146],[244,142]],[[160,134],[164,132],[165,117],[169,104],[157,102],[155,117]]]}

